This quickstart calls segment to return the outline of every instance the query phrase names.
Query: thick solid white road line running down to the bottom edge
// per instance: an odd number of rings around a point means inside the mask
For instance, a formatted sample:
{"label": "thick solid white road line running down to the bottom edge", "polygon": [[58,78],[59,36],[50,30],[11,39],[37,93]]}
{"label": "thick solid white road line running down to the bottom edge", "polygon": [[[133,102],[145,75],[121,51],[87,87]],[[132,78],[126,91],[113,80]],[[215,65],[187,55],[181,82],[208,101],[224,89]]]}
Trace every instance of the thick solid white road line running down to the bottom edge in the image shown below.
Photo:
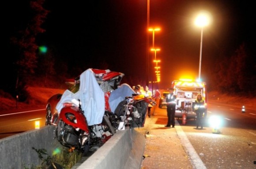
{"label": "thick solid white road line running down to the bottom edge", "polygon": [[[175,119],[175,123],[179,124],[179,122]],[[181,129],[180,124],[175,125],[175,129],[177,132],[178,137],[181,139],[181,142],[184,145],[184,149],[187,150],[187,153],[191,159],[192,166],[195,167],[195,169],[207,169],[206,166],[203,164],[203,161],[199,157],[199,155],[196,153],[196,150],[188,140],[188,137],[184,133],[184,131]]]}

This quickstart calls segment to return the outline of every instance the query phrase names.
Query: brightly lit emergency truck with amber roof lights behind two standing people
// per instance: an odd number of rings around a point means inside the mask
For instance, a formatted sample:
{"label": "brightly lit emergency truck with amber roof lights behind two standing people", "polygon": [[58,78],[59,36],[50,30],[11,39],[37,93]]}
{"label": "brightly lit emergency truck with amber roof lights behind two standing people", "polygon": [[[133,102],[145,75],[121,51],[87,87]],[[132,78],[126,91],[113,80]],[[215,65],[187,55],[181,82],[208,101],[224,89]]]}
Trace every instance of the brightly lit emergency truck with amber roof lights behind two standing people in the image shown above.
{"label": "brightly lit emergency truck with amber roof lights behind two standing people", "polygon": [[176,118],[182,118],[182,115],[186,113],[187,119],[196,119],[194,104],[198,93],[201,93],[205,102],[204,118],[207,117],[207,87],[205,82],[180,79],[174,80],[171,86],[174,89],[173,93],[177,97]]}

